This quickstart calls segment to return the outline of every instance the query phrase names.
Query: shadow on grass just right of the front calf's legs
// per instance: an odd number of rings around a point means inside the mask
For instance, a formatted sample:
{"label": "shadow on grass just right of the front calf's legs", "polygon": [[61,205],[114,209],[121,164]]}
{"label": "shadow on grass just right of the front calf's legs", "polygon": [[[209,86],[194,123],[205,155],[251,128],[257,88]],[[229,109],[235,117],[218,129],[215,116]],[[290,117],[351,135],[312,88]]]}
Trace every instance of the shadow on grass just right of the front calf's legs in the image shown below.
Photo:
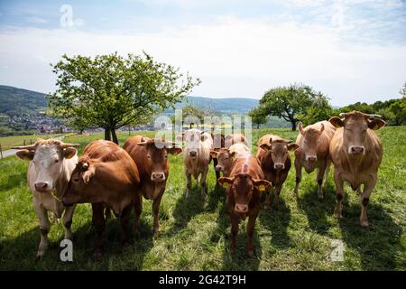
{"label": "shadow on grass just right of the front calf's legs", "polygon": [[262,203],[259,215],[261,225],[272,232],[272,245],[280,248],[291,247],[291,238],[287,231],[291,222],[291,209],[286,206],[283,197],[280,197],[277,209],[273,206],[273,194],[271,195],[271,200],[272,207],[269,210],[264,210]]}

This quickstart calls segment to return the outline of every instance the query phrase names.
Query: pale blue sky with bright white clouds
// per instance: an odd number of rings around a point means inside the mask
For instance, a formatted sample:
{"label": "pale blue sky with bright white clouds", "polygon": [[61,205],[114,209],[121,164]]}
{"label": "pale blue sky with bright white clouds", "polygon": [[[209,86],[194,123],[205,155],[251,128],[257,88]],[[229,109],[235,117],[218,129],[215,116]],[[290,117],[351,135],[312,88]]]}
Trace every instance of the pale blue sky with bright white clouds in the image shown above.
{"label": "pale blue sky with bright white clouds", "polygon": [[49,63],[63,53],[144,50],[202,79],[196,96],[261,98],[302,82],[345,105],[399,97],[406,2],[2,1],[0,42],[0,83],[25,89],[54,89]]}

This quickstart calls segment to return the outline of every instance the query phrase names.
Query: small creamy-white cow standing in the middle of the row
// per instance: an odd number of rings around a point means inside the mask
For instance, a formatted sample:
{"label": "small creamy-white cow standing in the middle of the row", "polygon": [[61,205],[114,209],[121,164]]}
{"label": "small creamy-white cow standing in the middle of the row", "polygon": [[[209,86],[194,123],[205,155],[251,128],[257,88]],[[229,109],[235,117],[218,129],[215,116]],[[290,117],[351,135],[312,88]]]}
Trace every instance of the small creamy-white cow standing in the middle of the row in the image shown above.
{"label": "small creamy-white cow standing in the middle of the row", "polygon": [[201,197],[206,200],[208,185],[206,177],[208,175],[208,163],[210,163],[210,150],[213,149],[213,138],[208,133],[202,132],[196,128],[192,128],[178,135],[178,139],[183,140],[186,144],[185,158],[185,174],[187,180],[188,197],[191,193],[191,176],[196,180],[200,176]]}

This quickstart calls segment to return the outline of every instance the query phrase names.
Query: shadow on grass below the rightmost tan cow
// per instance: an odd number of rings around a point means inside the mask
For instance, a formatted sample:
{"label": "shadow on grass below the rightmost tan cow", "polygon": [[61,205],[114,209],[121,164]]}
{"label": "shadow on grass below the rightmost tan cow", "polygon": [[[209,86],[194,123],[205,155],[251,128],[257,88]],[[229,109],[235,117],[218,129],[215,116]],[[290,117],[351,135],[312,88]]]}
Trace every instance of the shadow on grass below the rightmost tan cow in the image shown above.
{"label": "shadow on grass below the rightmost tan cow", "polygon": [[[403,228],[374,200],[368,205],[369,228],[360,226],[360,214],[360,202],[351,205],[344,203],[339,226],[346,246],[355,249],[361,257],[363,269],[404,270],[404,260],[401,264],[401,254],[404,254],[404,246],[401,244]],[[396,260],[398,256],[399,264]]]}

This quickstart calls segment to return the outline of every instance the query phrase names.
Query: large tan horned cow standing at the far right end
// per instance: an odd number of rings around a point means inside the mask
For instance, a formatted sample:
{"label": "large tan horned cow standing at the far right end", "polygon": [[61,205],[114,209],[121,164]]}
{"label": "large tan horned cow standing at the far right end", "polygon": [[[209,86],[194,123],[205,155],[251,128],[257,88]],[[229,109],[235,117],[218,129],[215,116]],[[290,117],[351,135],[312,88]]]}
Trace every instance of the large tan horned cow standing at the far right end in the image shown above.
{"label": "large tan horned cow standing at the far right end", "polygon": [[331,124],[339,127],[330,144],[337,189],[335,215],[342,217],[344,181],[349,182],[351,188],[359,192],[361,184],[364,184],[360,222],[361,226],[367,227],[369,223],[366,209],[383,156],[383,146],[374,130],[384,126],[385,122],[380,116],[366,115],[359,111],[340,114],[340,117],[331,117],[329,120]]}

